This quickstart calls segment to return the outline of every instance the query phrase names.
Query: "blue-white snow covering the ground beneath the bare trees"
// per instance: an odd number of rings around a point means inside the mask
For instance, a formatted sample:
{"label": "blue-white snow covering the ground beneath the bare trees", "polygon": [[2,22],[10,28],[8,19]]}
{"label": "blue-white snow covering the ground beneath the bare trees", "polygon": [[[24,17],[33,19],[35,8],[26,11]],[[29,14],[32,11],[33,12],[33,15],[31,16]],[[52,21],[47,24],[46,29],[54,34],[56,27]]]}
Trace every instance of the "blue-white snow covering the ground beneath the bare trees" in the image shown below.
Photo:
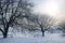
{"label": "blue-white snow covering the ground beneath the bare trees", "polygon": [[0,38],[0,43],[65,43],[65,37],[58,37],[58,34],[48,34],[44,38],[37,37],[37,38]]}

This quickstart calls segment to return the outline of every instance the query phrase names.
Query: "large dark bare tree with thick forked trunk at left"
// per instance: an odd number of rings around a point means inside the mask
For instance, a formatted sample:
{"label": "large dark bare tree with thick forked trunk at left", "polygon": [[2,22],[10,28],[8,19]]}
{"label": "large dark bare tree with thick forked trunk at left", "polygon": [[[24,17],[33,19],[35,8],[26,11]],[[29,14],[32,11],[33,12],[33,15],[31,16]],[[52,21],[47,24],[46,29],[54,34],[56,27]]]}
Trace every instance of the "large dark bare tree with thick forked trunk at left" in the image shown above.
{"label": "large dark bare tree with thick forked trunk at left", "polygon": [[29,17],[34,5],[28,0],[0,0],[0,31],[6,38],[9,27],[20,25],[18,19]]}

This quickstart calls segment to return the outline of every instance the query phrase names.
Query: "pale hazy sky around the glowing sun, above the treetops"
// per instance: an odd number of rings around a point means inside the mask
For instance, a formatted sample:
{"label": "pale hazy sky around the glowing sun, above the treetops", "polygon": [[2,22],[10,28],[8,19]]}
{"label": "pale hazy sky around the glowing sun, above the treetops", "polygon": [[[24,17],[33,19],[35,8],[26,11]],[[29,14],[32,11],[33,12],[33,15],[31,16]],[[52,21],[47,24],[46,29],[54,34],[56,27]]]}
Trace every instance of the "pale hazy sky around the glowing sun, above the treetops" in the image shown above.
{"label": "pale hazy sky around the glowing sun, above the treetops", "polygon": [[35,12],[55,16],[56,18],[65,17],[65,0],[32,0],[35,2]]}

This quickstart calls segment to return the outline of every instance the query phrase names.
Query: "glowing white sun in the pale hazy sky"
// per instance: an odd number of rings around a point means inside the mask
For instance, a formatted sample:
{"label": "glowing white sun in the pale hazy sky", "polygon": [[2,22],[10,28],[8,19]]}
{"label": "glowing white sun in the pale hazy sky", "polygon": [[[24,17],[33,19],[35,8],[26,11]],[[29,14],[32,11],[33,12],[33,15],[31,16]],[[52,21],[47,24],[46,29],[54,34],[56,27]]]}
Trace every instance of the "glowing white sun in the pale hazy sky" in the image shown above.
{"label": "glowing white sun in the pale hazy sky", "polygon": [[46,4],[46,12],[51,16],[56,16],[57,13],[57,4],[54,2],[50,2]]}

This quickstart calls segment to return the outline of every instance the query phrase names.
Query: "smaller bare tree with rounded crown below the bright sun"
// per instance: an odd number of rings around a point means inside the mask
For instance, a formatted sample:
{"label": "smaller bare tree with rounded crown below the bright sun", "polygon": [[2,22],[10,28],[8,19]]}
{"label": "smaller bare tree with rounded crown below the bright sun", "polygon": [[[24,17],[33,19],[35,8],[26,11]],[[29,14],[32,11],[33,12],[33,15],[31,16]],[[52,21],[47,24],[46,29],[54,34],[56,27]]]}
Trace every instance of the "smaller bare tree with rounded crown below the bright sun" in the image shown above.
{"label": "smaller bare tree with rounded crown below the bright sun", "polygon": [[55,19],[48,15],[31,15],[28,19],[36,24],[36,27],[41,28],[42,37],[44,37],[44,31],[54,25]]}

